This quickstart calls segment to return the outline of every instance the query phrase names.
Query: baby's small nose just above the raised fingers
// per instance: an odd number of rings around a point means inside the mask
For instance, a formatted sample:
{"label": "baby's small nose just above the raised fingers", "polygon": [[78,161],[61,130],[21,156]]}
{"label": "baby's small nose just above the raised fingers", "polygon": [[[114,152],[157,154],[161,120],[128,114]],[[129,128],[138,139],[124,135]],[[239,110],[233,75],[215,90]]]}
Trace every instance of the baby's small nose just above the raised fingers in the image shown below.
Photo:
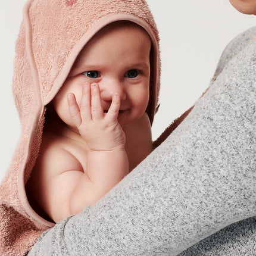
{"label": "baby's small nose just above the raised fingers", "polygon": [[112,97],[115,92],[118,92],[121,98],[121,101],[126,99],[126,92],[121,85],[121,83],[111,82],[108,85],[100,86],[101,89],[101,99],[103,101],[112,101]]}

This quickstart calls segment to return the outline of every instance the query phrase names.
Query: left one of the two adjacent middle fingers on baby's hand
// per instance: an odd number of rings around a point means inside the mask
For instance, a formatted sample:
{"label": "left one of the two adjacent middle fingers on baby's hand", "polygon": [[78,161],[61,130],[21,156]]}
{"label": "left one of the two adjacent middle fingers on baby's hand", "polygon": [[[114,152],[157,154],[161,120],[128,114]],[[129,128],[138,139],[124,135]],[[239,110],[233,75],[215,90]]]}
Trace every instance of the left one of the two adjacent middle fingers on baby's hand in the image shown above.
{"label": "left one of the two adjacent middle fingers on baby's hand", "polygon": [[83,85],[82,98],[80,102],[80,113],[83,121],[92,120],[92,114],[90,111],[90,85],[86,83]]}

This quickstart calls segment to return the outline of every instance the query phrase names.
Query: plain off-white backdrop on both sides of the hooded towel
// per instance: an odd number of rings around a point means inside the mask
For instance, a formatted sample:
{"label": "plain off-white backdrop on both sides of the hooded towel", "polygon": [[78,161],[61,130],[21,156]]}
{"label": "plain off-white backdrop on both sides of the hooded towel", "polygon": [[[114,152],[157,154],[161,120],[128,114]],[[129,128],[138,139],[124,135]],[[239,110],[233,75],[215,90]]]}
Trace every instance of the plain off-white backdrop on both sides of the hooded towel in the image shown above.
{"label": "plain off-white backdrop on both sides of the hooded towel", "polygon": [[[1,1],[0,180],[20,136],[11,81],[14,44],[25,2]],[[161,106],[152,126],[156,139],[201,96],[224,47],[243,30],[255,26],[255,16],[239,13],[228,0],[148,0],[148,4],[161,38]]]}

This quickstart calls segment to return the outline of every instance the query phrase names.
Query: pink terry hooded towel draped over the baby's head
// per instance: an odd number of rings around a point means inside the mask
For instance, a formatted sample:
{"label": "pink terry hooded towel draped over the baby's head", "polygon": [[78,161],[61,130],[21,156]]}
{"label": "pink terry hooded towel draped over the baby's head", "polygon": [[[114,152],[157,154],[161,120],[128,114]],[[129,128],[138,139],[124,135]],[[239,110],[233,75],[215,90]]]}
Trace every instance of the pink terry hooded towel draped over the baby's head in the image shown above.
{"label": "pink terry hooded towel draped over the baby's head", "polygon": [[160,88],[157,27],[143,0],[30,0],[23,10],[14,60],[13,95],[21,137],[0,188],[0,254],[24,255],[55,223],[30,207],[25,185],[42,140],[45,106],[54,98],[77,55],[98,30],[118,20],[139,24],[152,40],[150,98],[154,119]]}

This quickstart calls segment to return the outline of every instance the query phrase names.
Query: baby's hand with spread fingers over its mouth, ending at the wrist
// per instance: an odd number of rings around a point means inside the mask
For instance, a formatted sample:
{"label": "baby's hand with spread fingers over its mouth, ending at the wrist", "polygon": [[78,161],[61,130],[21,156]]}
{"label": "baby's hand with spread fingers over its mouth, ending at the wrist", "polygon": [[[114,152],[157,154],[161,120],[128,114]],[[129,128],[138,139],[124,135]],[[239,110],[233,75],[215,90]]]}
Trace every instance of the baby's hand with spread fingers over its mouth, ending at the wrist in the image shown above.
{"label": "baby's hand with spread fingers over its mouth, ending at the wrist", "polygon": [[90,149],[108,151],[123,149],[126,141],[123,129],[118,123],[120,95],[114,93],[108,113],[105,114],[97,83],[83,86],[79,105],[73,93],[68,93],[70,117]]}

